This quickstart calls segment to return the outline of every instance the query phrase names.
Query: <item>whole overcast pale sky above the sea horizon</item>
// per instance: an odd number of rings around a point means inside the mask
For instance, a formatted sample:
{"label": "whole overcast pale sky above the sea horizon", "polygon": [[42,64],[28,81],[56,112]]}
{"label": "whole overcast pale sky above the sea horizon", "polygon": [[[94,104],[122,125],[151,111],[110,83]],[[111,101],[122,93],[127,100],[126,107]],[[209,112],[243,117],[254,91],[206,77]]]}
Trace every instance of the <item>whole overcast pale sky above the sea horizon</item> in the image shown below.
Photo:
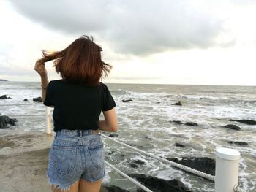
{"label": "whole overcast pale sky above the sea horizon", "polygon": [[256,0],[1,0],[0,79],[39,81],[41,50],[86,34],[113,66],[103,82],[256,85],[255,10]]}

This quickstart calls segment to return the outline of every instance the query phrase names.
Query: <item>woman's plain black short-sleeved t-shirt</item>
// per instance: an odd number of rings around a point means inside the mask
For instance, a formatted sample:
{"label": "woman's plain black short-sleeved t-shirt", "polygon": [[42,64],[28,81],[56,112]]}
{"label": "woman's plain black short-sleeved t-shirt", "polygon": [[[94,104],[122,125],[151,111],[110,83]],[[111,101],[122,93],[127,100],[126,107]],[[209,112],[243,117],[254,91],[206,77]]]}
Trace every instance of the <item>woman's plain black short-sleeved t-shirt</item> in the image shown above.
{"label": "woman's plain black short-sleeved t-shirt", "polygon": [[54,107],[54,131],[98,129],[101,111],[116,107],[108,87],[102,82],[89,87],[64,80],[49,82],[44,104]]}

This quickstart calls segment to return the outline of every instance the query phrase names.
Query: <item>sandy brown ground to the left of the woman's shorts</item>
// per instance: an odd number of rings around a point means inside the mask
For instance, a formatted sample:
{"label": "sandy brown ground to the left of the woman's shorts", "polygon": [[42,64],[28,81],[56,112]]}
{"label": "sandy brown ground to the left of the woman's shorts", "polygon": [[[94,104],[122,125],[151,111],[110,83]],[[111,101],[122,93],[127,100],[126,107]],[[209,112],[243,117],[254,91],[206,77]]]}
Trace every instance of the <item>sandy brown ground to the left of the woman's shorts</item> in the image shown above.
{"label": "sandy brown ground to the left of the woman's shorts", "polygon": [[42,131],[1,130],[0,192],[51,191],[46,171],[52,142],[53,135]]}

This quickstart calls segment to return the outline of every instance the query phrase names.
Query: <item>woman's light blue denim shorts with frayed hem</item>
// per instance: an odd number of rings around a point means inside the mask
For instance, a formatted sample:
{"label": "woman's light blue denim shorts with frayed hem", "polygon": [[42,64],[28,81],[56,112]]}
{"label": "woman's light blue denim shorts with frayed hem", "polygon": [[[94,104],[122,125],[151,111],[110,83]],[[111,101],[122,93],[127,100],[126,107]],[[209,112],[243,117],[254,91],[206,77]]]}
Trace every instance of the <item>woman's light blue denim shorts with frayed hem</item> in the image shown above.
{"label": "woman's light blue denim shorts with frayed hem", "polygon": [[105,176],[103,142],[92,130],[56,131],[50,147],[47,177],[50,185],[69,190],[78,180],[97,181]]}

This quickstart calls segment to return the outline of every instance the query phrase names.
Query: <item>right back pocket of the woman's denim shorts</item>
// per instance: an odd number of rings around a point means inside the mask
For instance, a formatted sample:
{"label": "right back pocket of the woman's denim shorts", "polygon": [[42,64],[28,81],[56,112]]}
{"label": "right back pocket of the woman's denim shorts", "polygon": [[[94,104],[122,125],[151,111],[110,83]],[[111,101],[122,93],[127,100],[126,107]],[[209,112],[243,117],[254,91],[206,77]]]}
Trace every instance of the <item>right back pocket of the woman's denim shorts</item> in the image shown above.
{"label": "right back pocket of the woman's denim shorts", "polygon": [[88,147],[91,162],[96,169],[104,168],[103,142],[102,139],[96,139]]}

